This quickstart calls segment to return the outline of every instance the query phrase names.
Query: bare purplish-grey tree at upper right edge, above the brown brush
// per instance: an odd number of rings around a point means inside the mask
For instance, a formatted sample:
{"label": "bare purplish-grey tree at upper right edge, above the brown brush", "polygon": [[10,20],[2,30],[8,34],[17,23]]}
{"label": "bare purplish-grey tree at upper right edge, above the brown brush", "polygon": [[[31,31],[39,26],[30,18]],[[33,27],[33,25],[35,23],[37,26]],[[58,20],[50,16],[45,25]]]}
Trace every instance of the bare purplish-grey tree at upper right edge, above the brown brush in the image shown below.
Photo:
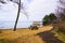
{"label": "bare purplish-grey tree at upper right edge, above the brown brush", "polygon": [[56,15],[60,20],[65,18],[65,0],[58,0]]}

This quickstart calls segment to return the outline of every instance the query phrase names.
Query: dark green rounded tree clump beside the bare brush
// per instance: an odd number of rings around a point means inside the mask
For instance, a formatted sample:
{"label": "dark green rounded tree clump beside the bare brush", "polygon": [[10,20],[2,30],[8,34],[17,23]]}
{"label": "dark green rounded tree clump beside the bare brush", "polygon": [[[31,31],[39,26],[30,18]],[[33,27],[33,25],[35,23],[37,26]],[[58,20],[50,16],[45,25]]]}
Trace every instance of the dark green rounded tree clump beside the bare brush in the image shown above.
{"label": "dark green rounded tree clump beside the bare brush", "polygon": [[52,24],[56,19],[56,16],[54,13],[50,13],[49,15],[46,15],[42,18],[42,25],[49,25]]}

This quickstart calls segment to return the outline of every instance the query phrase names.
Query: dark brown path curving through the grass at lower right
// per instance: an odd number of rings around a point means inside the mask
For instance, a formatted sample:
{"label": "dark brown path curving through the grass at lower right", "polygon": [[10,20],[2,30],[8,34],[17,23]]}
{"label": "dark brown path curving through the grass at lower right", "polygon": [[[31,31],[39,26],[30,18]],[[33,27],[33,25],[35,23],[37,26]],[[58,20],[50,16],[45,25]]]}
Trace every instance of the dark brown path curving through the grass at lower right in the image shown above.
{"label": "dark brown path curving through the grass at lower right", "polygon": [[61,40],[57,39],[57,37],[54,35],[55,33],[51,31],[52,30],[43,31],[37,33],[37,35],[39,35],[46,43],[63,43]]}

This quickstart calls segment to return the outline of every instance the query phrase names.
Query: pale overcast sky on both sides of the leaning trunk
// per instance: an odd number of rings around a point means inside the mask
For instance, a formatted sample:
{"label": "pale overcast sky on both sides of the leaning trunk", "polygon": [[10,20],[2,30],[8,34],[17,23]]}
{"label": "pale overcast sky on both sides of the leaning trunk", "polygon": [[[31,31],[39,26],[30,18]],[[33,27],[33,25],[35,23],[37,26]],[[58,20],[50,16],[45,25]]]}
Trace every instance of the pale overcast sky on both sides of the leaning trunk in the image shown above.
{"label": "pale overcast sky on both sides of the leaning trunk", "polygon": [[[26,15],[21,12],[18,22],[42,20],[44,15],[55,12],[57,0],[23,0],[26,6]],[[15,20],[17,15],[17,4],[8,2],[0,3],[0,20]],[[14,5],[14,6],[13,6]]]}

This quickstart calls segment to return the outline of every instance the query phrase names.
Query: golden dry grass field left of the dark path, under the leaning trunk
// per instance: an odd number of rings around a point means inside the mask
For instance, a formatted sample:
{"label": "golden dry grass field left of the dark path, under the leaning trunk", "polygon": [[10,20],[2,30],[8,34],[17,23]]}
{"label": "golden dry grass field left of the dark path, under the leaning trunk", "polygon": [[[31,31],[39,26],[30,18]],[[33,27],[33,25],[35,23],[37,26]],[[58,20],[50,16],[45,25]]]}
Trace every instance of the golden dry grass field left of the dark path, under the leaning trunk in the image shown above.
{"label": "golden dry grass field left of the dark path, under the leaning trunk", "polygon": [[29,29],[17,29],[13,30],[1,30],[0,33],[0,42],[3,43],[44,43],[39,35],[36,35],[39,32],[43,32],[47,30],[51,30],[52,27],[44,26],[39,28],[38,30],[29,30]]}

